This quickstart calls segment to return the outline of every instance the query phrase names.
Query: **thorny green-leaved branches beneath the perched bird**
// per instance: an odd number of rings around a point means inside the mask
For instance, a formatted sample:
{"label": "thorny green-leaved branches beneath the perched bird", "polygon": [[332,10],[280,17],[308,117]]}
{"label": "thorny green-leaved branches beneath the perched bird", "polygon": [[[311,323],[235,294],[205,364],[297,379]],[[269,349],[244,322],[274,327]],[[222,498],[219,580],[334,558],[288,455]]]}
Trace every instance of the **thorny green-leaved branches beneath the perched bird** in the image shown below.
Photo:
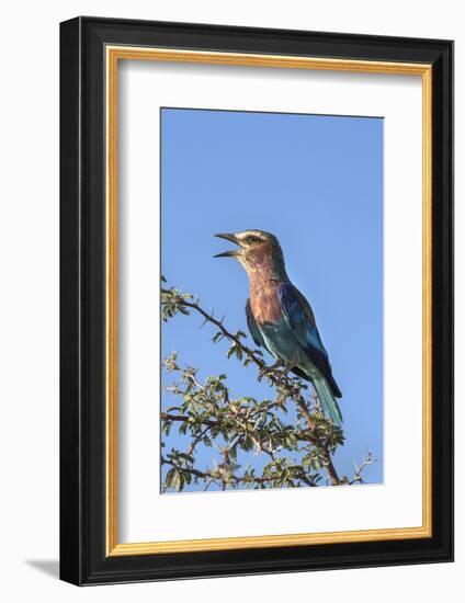
{"label": "thorny green-leaved branches beneath the perched bird", "polygon": [[[181,398],[182,402],[161,413],[162,431],[168,436],[177,424],[181,434],[189,433],[191,442],[184,453],[171,450],[162,455],[162,465],[170,467],[165,476],[163,491],[180,491],[185,485],[199,481],[205,483],[205,490],[212,483],[219,489],[318,486],[321,468],[333,486],[363,482],[361,474],[373,462],[371,453],[360,467],[355,465],[353,479],[339,477],[332,455],[343,444],[343,433],[322,416],[315,392],[307,394],[307,384],[290,376],[287,371],[268,366],[261,351],[252,350],[242,341],[246,333],[229,331],[224,318],[216,318],[214,311],[207,312],[191,294],[162,286],[161,309],[165,321],[178,314],[199,314],[203,318],[202,326],[209,323],[215,327],[214,343],[222,340],[230,343],[227,357],[236,356],[245,366],[256,365],[259,380],[265,377],[275,390],[273,400],[258,401],[250,397],[232,400],[226,375],[208,377],[201,383],[196,368],[182,368],[175,353],[168,356],[165,368],[177,374],[179,379],[166,387],[166,391]],[[280,418],[287,413],[290,401],[297,411],[296,424],[284,423]],[[222,462],[201,470],[196,466],[196,448],[214,444]],[[254,455],[266,455],[269,464],[261,475],[257,475],[253,467],[239,474],[238,451],[252,450]],[[291,452],[293,456],[283,456],[283,452]]]}

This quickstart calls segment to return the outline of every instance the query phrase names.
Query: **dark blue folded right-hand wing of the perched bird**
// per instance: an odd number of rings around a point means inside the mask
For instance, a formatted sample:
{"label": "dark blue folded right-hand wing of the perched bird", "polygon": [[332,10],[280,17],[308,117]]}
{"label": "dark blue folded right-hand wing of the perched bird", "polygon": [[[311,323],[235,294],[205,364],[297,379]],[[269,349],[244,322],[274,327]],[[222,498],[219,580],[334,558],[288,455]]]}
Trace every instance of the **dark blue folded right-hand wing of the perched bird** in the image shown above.
{"label": "dark blue folded right-hand wing of the perched bird", "polygon": [[299,345],[308,359],[322,373],[337,398],[342,396],[334,378],[328,359],[328,352],[321,342],[310,305],[291,283],[281,283],[277,287],[281,310]]}

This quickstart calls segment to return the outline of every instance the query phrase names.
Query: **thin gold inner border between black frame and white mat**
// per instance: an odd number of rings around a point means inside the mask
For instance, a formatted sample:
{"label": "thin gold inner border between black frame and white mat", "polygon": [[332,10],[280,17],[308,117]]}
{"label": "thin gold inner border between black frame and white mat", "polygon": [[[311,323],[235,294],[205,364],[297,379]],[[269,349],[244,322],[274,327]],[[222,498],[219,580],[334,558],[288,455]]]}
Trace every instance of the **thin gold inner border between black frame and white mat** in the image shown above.
{"label": "thin gold inner border between black frame and white mat", "polygon": [[[345,532],[276,534],[189,541],[118,543],[117,539],[117,68],[120,60],[241,65],[422,79],[422,525]],[[399,541],[432,536],[432,66],[429,64],[293,57],[155,47],[105,47],[106,67],[106,325],[105,325],[105,515],[106,556],[157,555],[280,546]]]}

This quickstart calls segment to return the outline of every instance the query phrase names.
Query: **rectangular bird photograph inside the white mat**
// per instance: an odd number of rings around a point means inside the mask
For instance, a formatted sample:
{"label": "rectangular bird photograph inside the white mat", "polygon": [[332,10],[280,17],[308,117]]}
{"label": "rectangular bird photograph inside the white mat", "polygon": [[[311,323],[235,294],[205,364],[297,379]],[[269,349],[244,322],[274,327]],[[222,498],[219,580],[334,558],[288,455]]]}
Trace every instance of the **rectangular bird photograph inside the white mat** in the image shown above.
{"label": "rectangular bird photograph inside the white mat", "polygon": [[384,482],[383,133],[160,109],[161,493]]}

